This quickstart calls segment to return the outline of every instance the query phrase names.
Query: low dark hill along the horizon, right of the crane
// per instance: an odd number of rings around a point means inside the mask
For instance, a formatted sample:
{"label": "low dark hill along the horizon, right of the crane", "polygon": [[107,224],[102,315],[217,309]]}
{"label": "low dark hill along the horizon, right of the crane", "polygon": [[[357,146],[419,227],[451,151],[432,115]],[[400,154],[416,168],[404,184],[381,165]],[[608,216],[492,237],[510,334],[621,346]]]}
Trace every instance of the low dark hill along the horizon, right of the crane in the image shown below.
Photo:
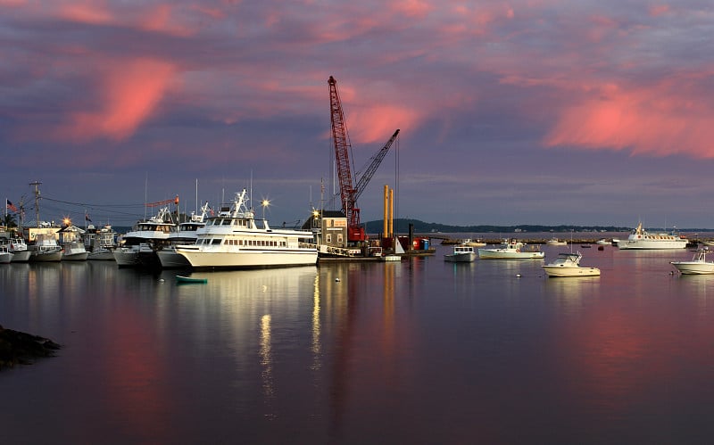
{"label": "low dark hill along the horizon, right of the crane", "polygon": [[[378,234],[382,232],[383,221],[369,221],[365,223],[365,230],[368,234]],[[409,232],[409,225],[414,225],[414,232],[419,234],[426,234],[432,232],[443,232],[447,234],[461,234],[461,233],[514,233],[514,232],[629,232],[633,227],[617,227],[617,226],[572,226],[572,225],[561,225],[561,226],[535,226],[522,224],[519,226],[449,226],[447,224],[438,223],[428,223],[424,221],[419,221],[419,219],[406,219],[398,218],[394,219],[394,231],[400,234],[405,234]],[[655,227],[649,228],[648,230],[662,230]],[[671,230],[671,229],[669,229]],[[706,228],[694,228],[694,229],[679,229],[681,232],[709,232],[711,229]]]}

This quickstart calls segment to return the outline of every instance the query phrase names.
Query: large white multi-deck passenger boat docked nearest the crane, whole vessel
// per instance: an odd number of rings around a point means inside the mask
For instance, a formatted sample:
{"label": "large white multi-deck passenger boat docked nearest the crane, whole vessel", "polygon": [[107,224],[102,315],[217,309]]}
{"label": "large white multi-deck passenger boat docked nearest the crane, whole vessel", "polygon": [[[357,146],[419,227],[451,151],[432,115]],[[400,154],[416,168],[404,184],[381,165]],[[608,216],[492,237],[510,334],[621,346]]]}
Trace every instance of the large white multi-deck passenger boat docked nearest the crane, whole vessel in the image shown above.
{"label": "large white multi-deck passenger boat docked nearest the crane, whole vessel", "polygon": [[316,264],[317,245],[311,231],[273,229],[265,219],[256,223],[248,210],[245,189],[231,208],[208,218],[194,244],[176,247],[192,268],[275,268]]}

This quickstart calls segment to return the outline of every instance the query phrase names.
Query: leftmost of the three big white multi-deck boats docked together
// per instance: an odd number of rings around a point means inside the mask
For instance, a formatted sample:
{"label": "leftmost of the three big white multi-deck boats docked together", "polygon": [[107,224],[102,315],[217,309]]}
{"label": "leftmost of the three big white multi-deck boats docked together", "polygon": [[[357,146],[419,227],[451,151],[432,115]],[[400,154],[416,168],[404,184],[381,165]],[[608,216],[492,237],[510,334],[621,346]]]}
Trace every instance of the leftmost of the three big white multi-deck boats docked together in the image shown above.
{"label": "leftmost of the three big white multi-deck boats docked together", "polygon": [[154,217],[139,221],[123,236],[119,247],[112,252],[117,266],[152,268],[160,266],[156,250],[167,243],[176,225],[170,222],[170,210],[164,207]]}

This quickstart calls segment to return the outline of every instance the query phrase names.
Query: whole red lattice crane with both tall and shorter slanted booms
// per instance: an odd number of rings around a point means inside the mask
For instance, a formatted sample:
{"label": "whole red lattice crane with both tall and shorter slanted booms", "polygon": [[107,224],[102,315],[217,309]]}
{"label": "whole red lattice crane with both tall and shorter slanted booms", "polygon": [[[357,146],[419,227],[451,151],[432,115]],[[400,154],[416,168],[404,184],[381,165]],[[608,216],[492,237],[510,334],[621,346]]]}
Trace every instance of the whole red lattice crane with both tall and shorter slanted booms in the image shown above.
{"label": "whole red lattice crane with both tall and shorter slanted booms", "polygon": [[351,243],[364,241],[364,227],[360,226],[360,209],[357,207],[357,198],[369,184],[369,179],[377,171],[379,163],[386,156],[386,152],[389,151],[389,147],[394,143],[396,136],[399,135],[399,130],[397,129],[385,146],[372,157],[372,162],[368,169],[364,172],[357,185],[354,185],[349,156],[352,145],[350,144],[350,137],[347,135],[345,114],[342,111],[342,102],[340,101],[339,93],[337,93],[337,81],[335,78],[330,76],[328,85],[330,121],[332,124],[332,138],[335,144],[337,177],[340,182],[340,198],[342,200],[342,211],[345,212],[347,217],[347,241]]}

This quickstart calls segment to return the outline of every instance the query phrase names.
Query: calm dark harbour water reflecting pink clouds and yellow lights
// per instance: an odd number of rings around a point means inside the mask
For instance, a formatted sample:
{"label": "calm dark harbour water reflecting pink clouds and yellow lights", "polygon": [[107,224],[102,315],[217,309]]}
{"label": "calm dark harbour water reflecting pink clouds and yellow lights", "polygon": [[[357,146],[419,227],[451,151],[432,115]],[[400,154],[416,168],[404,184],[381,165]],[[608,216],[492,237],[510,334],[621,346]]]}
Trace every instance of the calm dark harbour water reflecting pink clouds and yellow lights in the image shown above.
{"label": "calm dark harbour water reflecting pink clouds and yellow lights", "polygon": [[[546,261],[560,247],[544,247]],[[0,266],[2,443],[710,443],[714,276],[690,251],[201,273]],[[517,275],[520,275],[518,277]]]}

